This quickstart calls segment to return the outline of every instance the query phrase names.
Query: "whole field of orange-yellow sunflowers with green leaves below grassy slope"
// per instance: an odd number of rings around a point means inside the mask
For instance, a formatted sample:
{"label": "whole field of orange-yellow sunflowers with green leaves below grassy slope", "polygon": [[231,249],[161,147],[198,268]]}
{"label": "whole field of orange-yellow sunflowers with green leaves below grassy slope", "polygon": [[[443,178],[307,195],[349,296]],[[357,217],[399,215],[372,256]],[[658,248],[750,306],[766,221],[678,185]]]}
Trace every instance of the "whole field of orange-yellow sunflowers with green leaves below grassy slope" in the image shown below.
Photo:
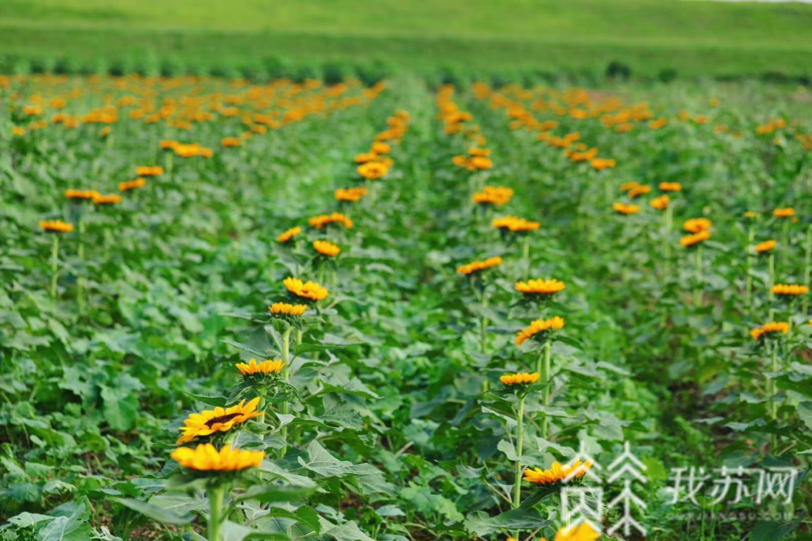
{"label": "whole field of orange-yellow sunflowers with green leaves below grassy slope", "polygon": [[809,88],[330,83],[0,76],[0,539],[812,539]]}

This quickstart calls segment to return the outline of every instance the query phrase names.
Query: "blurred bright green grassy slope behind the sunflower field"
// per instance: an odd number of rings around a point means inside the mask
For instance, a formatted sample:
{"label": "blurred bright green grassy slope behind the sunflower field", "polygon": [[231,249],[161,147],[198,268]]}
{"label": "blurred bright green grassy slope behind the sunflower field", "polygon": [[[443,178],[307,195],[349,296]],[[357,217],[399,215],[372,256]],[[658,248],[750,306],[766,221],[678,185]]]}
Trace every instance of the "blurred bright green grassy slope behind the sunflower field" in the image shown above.
{"label": "blurred bright green grassy slope behind the sunflower field", "polygon": [[812,75],[812,6],[685,0],[3,0],[0,54],[233,67]]}

